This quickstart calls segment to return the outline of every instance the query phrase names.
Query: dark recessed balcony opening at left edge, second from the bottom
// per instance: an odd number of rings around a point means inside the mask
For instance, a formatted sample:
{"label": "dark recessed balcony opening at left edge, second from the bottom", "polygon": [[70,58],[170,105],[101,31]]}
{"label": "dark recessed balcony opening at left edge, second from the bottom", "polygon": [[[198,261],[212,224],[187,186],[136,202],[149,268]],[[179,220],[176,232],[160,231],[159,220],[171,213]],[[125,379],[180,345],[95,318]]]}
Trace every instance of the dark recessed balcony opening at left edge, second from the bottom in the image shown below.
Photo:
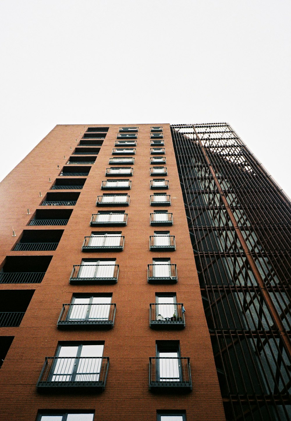
{"label": "dark recessed balcony opening at left edge, second from the bottom", "polygon": [[0,327],[19,326],[35,290],[3,290],[0,294]]}

